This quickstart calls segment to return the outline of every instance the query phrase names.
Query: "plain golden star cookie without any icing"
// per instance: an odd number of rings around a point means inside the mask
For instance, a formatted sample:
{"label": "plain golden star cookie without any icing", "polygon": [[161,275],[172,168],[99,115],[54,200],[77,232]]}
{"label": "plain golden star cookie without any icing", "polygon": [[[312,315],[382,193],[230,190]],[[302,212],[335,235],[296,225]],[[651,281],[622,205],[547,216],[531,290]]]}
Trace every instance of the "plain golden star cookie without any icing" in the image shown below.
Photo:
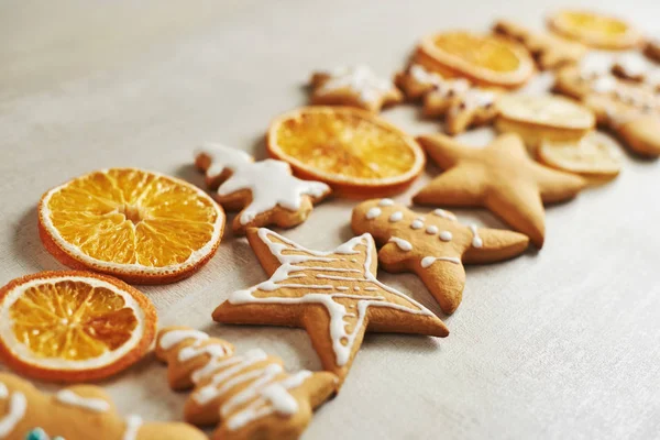
{"label": "plain golden star cookie without any icing", "polygon": [[502,134],[481,150],[442,134],[418,141],[444,173],[414,197],[416,204],[483,206],[539,249],[546,237],[543,204],[571,199],[586,185],[534,162],[517,134]]}

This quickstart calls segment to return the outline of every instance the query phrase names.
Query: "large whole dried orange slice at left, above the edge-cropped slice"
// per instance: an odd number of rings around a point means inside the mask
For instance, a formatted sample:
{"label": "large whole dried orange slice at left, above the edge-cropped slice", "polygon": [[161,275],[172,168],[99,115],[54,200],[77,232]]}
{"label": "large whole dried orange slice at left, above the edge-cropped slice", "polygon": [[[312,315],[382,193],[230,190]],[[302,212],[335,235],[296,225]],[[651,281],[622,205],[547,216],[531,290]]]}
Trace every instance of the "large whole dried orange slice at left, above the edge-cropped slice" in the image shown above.
{"label": "large whole dried orange slice at left, above the edge-cropped slice", "polygon": [[197,187],[138,168],[98,170],[46,193],[38,206],[45,248],[74,268],[129,283],[172,283],[215,253],[224,212]]}

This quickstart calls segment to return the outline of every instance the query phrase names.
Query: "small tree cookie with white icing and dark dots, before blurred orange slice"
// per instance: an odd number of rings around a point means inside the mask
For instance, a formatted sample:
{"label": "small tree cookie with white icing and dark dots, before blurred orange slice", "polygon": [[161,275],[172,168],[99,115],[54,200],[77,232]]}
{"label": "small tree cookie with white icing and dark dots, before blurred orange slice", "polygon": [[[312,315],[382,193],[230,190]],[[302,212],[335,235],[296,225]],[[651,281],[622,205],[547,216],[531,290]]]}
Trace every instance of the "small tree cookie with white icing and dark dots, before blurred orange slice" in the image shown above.
{"label": "small tree cookie with white icing and dark dots, before blurred orange slice", "polygon": [[444,79],[419,64],[399,73],[396,80],[408,99],[424,100],[425,116],[444,118],[449,134],[491,123],[497,116],[495,102],[499,90],[473,87],[464,78]]}

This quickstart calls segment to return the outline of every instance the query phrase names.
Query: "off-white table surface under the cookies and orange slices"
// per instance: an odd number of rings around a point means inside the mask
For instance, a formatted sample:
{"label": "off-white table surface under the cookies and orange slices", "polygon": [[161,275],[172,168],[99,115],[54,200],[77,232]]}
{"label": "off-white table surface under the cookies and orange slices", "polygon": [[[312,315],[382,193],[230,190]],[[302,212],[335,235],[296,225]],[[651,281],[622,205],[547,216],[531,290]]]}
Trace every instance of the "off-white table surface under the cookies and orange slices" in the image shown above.
{"label": "off-white table surface under the cookies and orange slices", "polygon": [[[658,29],[656,0],[581,2]],[[41,245],[35,206],[86,172],[139,166],[200,183],[193,148],[219,141],[264,156],[276,114],[306,102],[316,68],[366,63],[389,75],[418,37],[498,16],[541,26],[551,0],[30,1],[0,3],[0,284],[63,268]],[[546,78],[549,79],[549,78]],[[540,84],[538,82],[537,89]],[[438,130],[404,106],[384,113],[413,134]],[[483,144],[488,129],[466,142]],[[436,175],[426,175],[396,199]],[[468,270],[444,340],[367,336],[341,394],[305,439],[660,438],[660,164],[625,157],[613,184],[547,211],[544,249]],[[285,234],[312,249],[351,237],[353,204],[333,200]],[[427,208],[428,209],[428,208]],[[425,210],[425,209],[421,209]],[[482,210],[464,221],[504,227]],[[381,273],[440,314],[414,275]],[[211,310],[264,279],[228,233],[191,278],[144,287],[162,324],[188,324],[318,370],[302,330],[224,327]],[[122,413],[182,418],[148,356],[106,382]],[[44,389],[55,387],[38,384]]]}

